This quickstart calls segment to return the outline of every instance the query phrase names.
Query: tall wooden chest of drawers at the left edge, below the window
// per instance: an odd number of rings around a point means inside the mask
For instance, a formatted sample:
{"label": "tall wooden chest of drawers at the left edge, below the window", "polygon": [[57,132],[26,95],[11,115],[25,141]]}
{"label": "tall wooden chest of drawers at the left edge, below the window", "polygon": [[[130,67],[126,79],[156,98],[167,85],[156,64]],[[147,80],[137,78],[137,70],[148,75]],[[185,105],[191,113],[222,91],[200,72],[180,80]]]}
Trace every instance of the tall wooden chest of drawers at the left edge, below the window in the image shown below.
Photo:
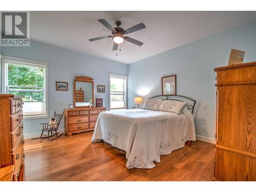
{"label": "tall wooden chest of drawers at the left edge, below the window", "polygon": [[0,168],[15,165],[13,181],[24,178],[23,102],[18,96],[0,94]]}

